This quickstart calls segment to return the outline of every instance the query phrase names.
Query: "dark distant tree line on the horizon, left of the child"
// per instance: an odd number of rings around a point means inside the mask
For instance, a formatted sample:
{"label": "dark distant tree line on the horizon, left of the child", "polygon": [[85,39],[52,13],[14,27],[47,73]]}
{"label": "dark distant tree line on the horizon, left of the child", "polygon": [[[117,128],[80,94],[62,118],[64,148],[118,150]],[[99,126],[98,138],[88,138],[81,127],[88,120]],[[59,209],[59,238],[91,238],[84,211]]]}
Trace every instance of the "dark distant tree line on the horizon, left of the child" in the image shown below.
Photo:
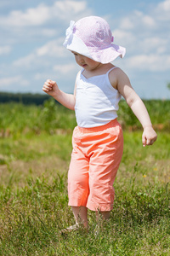
{"label": "dark distant tree line on the horizon, left of the child", "polygon": [[42,105],[43,102],[49,99],[47,94],[31,94],[31,93],[10,93],[0,92],[0,103],[19,102],[25,105]]}

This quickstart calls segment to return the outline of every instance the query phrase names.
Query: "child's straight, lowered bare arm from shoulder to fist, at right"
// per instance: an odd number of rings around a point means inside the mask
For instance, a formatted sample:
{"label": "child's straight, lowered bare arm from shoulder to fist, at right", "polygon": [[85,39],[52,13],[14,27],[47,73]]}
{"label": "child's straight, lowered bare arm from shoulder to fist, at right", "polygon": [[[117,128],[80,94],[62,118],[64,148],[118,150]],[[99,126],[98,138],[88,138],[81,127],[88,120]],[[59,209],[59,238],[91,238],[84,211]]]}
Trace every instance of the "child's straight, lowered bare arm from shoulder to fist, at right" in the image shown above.
{"label": "child's straight, lowered bare arm from shoulder to fist, at right", "polygon": [[125,98],[128,106],[133,110],[133,113],[139,119],[139,122],[144,128],[142,135],[142,143],[146,145],[152,145],[157,138],[156,131],[154,131],[150,116],[147,109],[144,106],[144,102],[140,99],[137,93],[133,90],[127,75],[118,69],[116,72],[116,88]]}

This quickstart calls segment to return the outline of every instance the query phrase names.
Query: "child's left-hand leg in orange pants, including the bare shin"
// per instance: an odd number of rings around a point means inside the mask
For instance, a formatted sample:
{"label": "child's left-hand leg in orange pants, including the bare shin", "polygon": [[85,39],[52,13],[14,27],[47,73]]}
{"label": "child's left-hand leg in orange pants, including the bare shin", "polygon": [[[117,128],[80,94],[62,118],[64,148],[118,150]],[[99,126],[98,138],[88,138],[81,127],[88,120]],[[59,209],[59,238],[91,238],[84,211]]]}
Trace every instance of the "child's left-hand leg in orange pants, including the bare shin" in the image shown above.
{"label": "child's left-hand leg in orange pants, including the bare shin", "polygon": [[79,131],[76,127],[72,137],[73,150],[68,172],[68,195],[74,218],[77,224],[88,228],[88,208],[86,207],[89,194],[88,169],[89,160],[81,148]]}

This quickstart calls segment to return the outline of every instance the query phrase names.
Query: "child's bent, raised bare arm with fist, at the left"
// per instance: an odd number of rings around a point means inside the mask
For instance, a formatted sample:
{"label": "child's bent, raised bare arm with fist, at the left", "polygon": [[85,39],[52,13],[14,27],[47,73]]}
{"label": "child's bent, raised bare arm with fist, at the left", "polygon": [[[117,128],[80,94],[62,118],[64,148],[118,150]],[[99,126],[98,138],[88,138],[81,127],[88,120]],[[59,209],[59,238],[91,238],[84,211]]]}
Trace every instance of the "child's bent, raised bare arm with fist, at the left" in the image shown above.
{"label": "child's bent, raised bare arm with fist, at the left", "polygon": [[74,95],[65,93],[64,91],[59,90],[59,87],[55,81],[52,81],[50,79],[48,79],[43,84],[42,90],[48,95],[53,96],[57,102],[61,103],[66,108],[69,108],[71,110],[75,109],[76,90]]}

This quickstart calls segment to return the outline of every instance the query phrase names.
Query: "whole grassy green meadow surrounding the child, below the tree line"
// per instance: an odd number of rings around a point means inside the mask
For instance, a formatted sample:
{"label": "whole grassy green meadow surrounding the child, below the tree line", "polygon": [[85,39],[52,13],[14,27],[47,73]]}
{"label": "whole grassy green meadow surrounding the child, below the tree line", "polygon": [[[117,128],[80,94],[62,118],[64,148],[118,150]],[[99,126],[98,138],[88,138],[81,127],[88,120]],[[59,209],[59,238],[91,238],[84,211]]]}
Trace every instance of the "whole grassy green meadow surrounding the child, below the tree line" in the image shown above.
{"label": "whole grassy green meadow surrounding the child, below the tree line", "polygon": [[94,212],[89,229],[74,224],[67,206],[67,171],[74,112],[54,100],[42,106],[0,104],[0,255],[170,255],[170,101],[144,102],[158,134],[142,147],[142,129],[120,103],[124,154],[111,219]]}

